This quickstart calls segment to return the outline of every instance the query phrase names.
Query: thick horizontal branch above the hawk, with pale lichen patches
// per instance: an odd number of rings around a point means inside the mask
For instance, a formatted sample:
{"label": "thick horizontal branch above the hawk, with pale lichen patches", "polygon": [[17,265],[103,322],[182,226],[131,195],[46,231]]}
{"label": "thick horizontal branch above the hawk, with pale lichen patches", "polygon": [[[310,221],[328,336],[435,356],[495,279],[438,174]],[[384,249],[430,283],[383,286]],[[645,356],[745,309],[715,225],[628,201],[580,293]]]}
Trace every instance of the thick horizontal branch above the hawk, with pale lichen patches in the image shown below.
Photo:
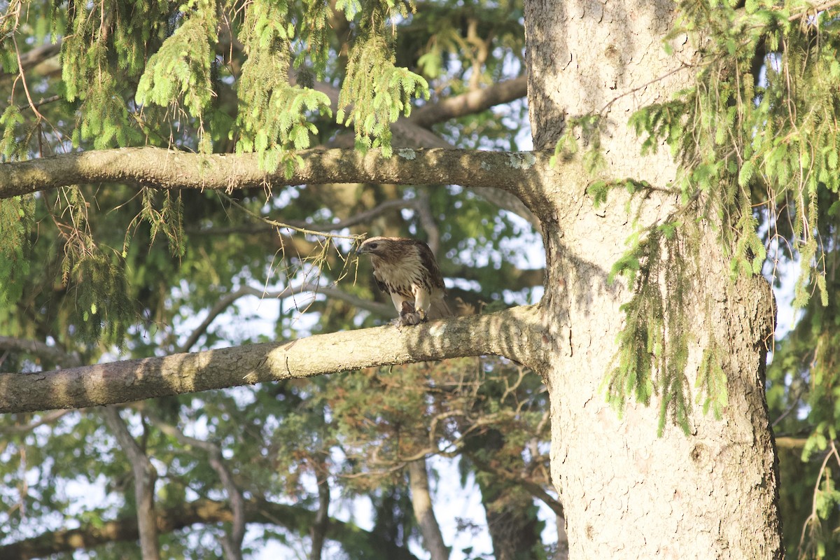
{"label": "thick horizontal branch above the hawk, with pale lichen patches", "polygon": [[[232,189],[326,183],[444,184],[510,191],[532,210],[544,206],[538,188],[550,152],[469,149],[311,149],[291,177],[260,170],[256,154],[190,154],[162,148],[122,148],[55,155],[0,164],[0,198],[83,183],[125,183],[158,189]],[[582,173],[577,163],[575,173]],[[281,165],[282,168],[282,165]]]}

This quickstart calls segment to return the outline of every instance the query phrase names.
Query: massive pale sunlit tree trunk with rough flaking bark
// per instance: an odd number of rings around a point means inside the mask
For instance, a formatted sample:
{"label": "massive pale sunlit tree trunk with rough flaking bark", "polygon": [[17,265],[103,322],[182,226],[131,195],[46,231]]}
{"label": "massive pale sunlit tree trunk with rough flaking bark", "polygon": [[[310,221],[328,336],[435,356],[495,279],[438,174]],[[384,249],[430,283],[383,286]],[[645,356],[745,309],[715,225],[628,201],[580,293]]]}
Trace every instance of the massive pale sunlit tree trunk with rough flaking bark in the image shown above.
{"label": "massive pale sunlit tree trunk with rough flaking bark", "polygon": [[[536,149],[552,149],[568,116],[601,113],[601,149],[612,177],[668,186],[676,165],[668,150],[642,157],[627,128],[638,107],[690,84],[680,60],[694,55],[685,40],[669,57],[661,39],[673,24],[670,0],[526,3],[528,99]],[[585,139],[580,139],[584,144]],[[582,148],[584,149],[584,148]],[[701,224],[701,270],[686,308],[690,342],[684,387],[690,434],[666,425],[657,437],[659,397],[633,395],[619,417],[602,381],[617,365],[620,306],[630,293],[607,282],[632,233],[626,196],[595,208],[579,181],[545,181],[539,213],[547,260],[541,304],[544,372],[552,403],[552,474],[566,513],[570,557],[776,558],[780,523],[774,444],[764,400],[764,339],[772,333],[772,295],[764,280],[729,280],[716,233]],[[639,223],[674,208],[652,196]],[[696,373],[710,341],[721,348],[728,406],[722,420],[696,404]],[[643,348],[639,348],[643,351]]]}

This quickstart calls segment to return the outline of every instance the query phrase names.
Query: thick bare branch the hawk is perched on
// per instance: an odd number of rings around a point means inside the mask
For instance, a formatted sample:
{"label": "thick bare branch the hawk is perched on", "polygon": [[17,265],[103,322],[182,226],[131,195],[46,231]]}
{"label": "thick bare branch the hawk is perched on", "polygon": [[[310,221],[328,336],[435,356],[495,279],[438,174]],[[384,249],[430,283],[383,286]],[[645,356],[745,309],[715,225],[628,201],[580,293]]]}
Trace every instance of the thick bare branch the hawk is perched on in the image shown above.
{"label": "thick bare branch the hawk is perched on", "polygon": [[387,364],[495,354],[543,362],[534,306],[491,315],[333,332],[265,343],[60,369],[0,374],[0,412],[112,405]]}

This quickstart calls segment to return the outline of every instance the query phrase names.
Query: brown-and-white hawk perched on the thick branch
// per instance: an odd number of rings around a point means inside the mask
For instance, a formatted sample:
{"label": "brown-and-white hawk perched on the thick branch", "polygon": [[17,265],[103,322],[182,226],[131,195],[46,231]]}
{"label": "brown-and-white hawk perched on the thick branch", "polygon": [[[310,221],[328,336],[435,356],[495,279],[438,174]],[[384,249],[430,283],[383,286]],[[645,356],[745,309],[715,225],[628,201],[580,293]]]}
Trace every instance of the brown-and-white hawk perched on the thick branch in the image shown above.
{"label": "brown-and-white hawk perched on the thick branch", "polygon": [[370,238],[356,250],[370,254],[379,289],[391,295],[400,314],[399,324],[416,325],[429,318],[449,317],[446,287],[432,249],[408,238]]}

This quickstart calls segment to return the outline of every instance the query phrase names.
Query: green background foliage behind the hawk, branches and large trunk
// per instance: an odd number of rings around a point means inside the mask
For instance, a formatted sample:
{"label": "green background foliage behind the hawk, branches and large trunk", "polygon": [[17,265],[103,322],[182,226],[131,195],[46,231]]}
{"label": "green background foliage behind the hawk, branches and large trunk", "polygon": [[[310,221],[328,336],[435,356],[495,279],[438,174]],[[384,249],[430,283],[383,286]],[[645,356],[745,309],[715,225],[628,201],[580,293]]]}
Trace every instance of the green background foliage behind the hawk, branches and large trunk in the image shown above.
{"label": "green background foliage behind the hawk, branches and large trunk", "polygon": [[[412,108],[433,109],[523,71],[517,2],[13,1],[0,8],[4,161],[155,145],[255,151],[266,169],[288,170],[293,150],[310,146],[423,144],[422,134],[401,137],[405,128],[389,123],[411,124]],[[788,551],[833,557],[837,8],[701,0],[679,8],[674,33],[689,34],[703,54],[696,86],[643,108],[633,123],[643,149],[664,141],[685,164],[673,187],[687,209],[631,240],[614,275],[673,272],[660,245],[675,254],[675,236],[702,217],[720,224],[733,274],[764,272],[780,299],[792,292],[803,306],[774,347],[768,400]],[[516,97],[523,95],[524,88]],[[432,115],[422,127],[434,145],[528,148],[522,101]],[[596,126],[591,116],[580,119]],[[523,251],[538,245],[537,235],[488,198],[453,186],[219,195],[79,185],[0,201],[0,368],[32,372],[381,324],[390,311],[370,303],[384,300],[367,264],[348,259],[363,233],[427,240],[462,313],[537,301],[540,262]],[[359,215],[365,220],[355,222]],[[628,322],[622,362],[641,358],[619,370],[616,383],[643,400],[682,394],[675,380],[684,345],[671,354],[661,348],[664,332],[681,328],[678,313],[659,312],[681,297],[680,278],[669,285],[659,297],[641,290],[628,308],[668,317]],[[657,371],[665,373],[651,378]],[[710,365],[701,378],[719,389],[720,374]],[[706,391],[713,409],[726,405],[718,389]],[[684,423],[675,402],[662,400],[664,414]],[[326,536],[335,556],[408,557],[420,540],[407,465],[431,457],[439,459],[429,465],[449,473],[455,465],[460,474],[438,483],[437,495],[458,484],[475,491],[491,536],[492,547],[465,547],[455,557],[562,554],[562,542],[542,538],[559,511],[548,479],[545,392],[533,373],[504,360],[171,397],[129,406],[122,418],[158,472],[156,506],[172,520],[161,541],[166,557],[222,557],[220,539],[235,526],[213,507],[229,511],[237,496],[249,521],[246,555],[258,557],[271,542],[318,557],[316,543]],[[108,532],[134,522],[135,497],[129,460],[101,411],[8,415],[0,432],[0,552],[28,543],[42,556],[69,557],[70,545],[43,543],[78,528],[101,536],[90,541],[89,557],[139,557],[135,536]],[[104,495],[84,495],[101,485]],[[538,516],[538,503],[554,510]],[[370,523],[355,514],[360,507]],[[318,521],[321,511],[329,524]],[[469,541],[474,529],[465,520],[447,537],[458,532]]]}

